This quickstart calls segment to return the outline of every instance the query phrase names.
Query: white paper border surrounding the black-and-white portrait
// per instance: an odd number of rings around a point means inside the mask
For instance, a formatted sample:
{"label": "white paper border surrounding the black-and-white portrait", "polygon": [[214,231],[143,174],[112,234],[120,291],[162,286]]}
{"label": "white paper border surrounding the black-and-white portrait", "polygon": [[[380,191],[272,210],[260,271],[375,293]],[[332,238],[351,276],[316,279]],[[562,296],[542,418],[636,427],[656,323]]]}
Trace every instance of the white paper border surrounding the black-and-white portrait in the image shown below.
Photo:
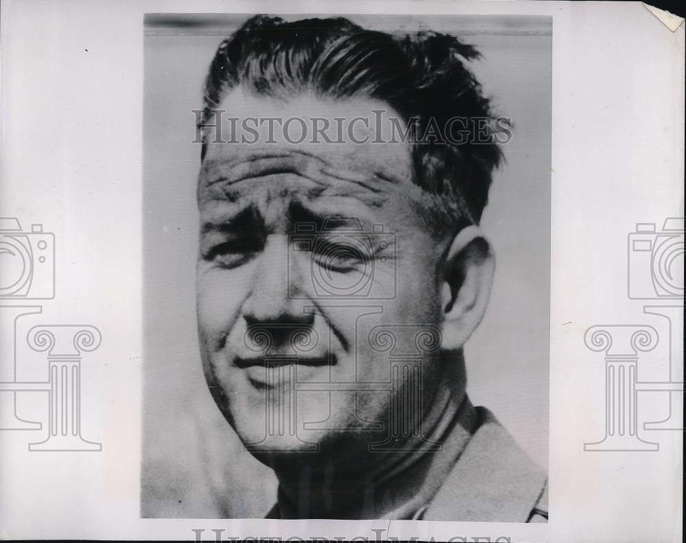
{"label": "white paper border surrounding the black-and-white portrait", "polygon": [[[10,1],[2,8],[0,216],[50,224],[60,237],[56,258],[73,268],[60,285],[69,303],[43,312],[51,322],[102,330],[99,362],[84,361],[82,371],[97,383],[84,391],[94,406],[91,439],[107,445],[91,456],[27,454],[25,440],[1,436],[2,537],[192,539],[191,529],[210,537],[224,529],[224,538],[681,540],[681,432],[663,432],[659,451],[648,454],[583,450],[602,437],[604,409],[602,359],[583,338],[593,325],[648,323],[622,286],[627,235],[637,222],[684,214],[683,25],[670,32],[640,3]],[[549,523],[141,520],[134,248],[143,13],[385,10],[554,18]],[[104,236],[114,240],[106,253]]]}

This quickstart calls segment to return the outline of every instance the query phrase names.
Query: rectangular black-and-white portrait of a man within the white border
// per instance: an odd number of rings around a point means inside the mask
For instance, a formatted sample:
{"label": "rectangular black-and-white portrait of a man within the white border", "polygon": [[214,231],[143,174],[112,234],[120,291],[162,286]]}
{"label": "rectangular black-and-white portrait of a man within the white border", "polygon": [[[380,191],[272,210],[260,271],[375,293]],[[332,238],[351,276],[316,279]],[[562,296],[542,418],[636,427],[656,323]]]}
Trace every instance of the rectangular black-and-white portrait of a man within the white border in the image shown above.
{"label": "rectangular black-and-white portrait of a man within the white border", "polygon": [[547,522],[551,46],[146,15],[142,516]]}

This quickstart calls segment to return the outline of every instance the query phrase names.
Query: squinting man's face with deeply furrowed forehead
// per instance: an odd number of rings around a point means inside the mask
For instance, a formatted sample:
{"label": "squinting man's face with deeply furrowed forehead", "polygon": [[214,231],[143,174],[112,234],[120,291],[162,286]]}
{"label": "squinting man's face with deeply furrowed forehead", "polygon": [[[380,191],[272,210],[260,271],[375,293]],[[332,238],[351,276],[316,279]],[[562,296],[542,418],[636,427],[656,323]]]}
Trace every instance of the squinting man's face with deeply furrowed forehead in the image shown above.
{"label": "squinting man's face with deeply furrowed forehead", "polygon": [[198,323],[215,402],[262,461],[361,456],[393,439],[399,406],[431,400],[440,366],[416,338],[440,326],[445,246],[416,213],[410,143],[371,143],[372,110],[400,117],[375,100],[283,102],[240,89],[219,109],[308,127],[312,117],[370,119],[368,130],[355,124],[367,143],[347,129],[344,143],[289,143],[267,124],[257,143],[209,138],[198,188]]}

